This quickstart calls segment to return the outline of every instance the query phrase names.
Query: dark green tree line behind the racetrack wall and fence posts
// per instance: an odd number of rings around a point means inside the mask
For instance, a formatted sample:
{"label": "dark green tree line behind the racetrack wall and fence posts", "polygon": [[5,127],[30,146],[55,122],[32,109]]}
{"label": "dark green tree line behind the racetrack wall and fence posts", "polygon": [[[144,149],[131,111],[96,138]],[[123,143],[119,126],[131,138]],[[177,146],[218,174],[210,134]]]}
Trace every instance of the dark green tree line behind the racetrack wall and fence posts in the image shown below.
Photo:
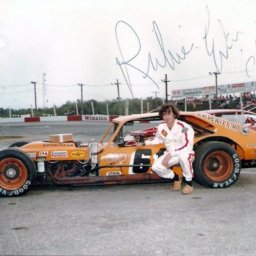
{"label": "dark green tree line behind the racetrack wall and fence posts", "polygon": [[[91,99],[88,101],[83,101],[83,115],[93,115],[93,111],[95,115],[107,115],[107,111],[109,115],[125,115],[127,111],[125,111],[125,106],[127,100],[111,100],[111,101],[95,101],[95,99]],[[195,100],[197,103],[198,100]],[[209,103],[199,101],[200,104],[187,104],[187,111],[199,111],[209,109]],[[93,103],[93,107],[92,107]],[[181,99],[179,101],[174,101],[175,105],[179,108],[179,110],[185,110],[185,101]],[[153,111],[157,109],[158,106],[163,104],[163,99],[159,97],[147,97],[147,99],[143,99],[142,101],[142,112],[147,113],[147,111]],[[141,113],[141,99],[129,99],[129,112],[128,114],[139,114]],[[65,104],[60,107],[46,107],[33,109],[34,117],[40,117],[45,115],[81,115],[81,101],[67,101]],[[213,106],[215,108],[215,106]],[[218,108],[221,108],[221,101],[219,101]],[[230,106],[230,108],[236,108],[235,106]],[[11,117],[20,117],[21,115],[31,115],[31,109],[3,109],[0,107],[0,117],[9,117],[11,113]]]}

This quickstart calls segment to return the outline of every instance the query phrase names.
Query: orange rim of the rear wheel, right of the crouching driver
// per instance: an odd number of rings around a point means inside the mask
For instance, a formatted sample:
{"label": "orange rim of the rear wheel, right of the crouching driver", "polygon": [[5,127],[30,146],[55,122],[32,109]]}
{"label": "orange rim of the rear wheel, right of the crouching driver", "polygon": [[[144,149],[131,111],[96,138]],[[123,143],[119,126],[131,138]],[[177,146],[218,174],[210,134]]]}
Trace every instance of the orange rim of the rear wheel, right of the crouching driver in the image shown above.
{"label": "orange rim of the rear wheel, right of the crouching driver", "polygon": [[224,151],[213,151],[203,164],[205,175],[212,181],[225,181],[233,172],[234,163],[231,156]]}

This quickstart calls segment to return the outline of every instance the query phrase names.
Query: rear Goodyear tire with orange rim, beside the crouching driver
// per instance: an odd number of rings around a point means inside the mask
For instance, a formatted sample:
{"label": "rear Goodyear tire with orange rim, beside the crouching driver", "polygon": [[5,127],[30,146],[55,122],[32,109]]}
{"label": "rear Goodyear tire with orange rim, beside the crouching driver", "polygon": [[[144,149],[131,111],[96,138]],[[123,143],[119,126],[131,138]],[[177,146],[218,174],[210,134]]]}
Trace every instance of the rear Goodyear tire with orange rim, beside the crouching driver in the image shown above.
{"label": "rear Goodyear tire with orange rim, beside the crouching driver", "polygon": [[193,167],[197,183],[211,188],[229,187],[239,177],[241,161],[229,144],[209,141],[197,148]]}

